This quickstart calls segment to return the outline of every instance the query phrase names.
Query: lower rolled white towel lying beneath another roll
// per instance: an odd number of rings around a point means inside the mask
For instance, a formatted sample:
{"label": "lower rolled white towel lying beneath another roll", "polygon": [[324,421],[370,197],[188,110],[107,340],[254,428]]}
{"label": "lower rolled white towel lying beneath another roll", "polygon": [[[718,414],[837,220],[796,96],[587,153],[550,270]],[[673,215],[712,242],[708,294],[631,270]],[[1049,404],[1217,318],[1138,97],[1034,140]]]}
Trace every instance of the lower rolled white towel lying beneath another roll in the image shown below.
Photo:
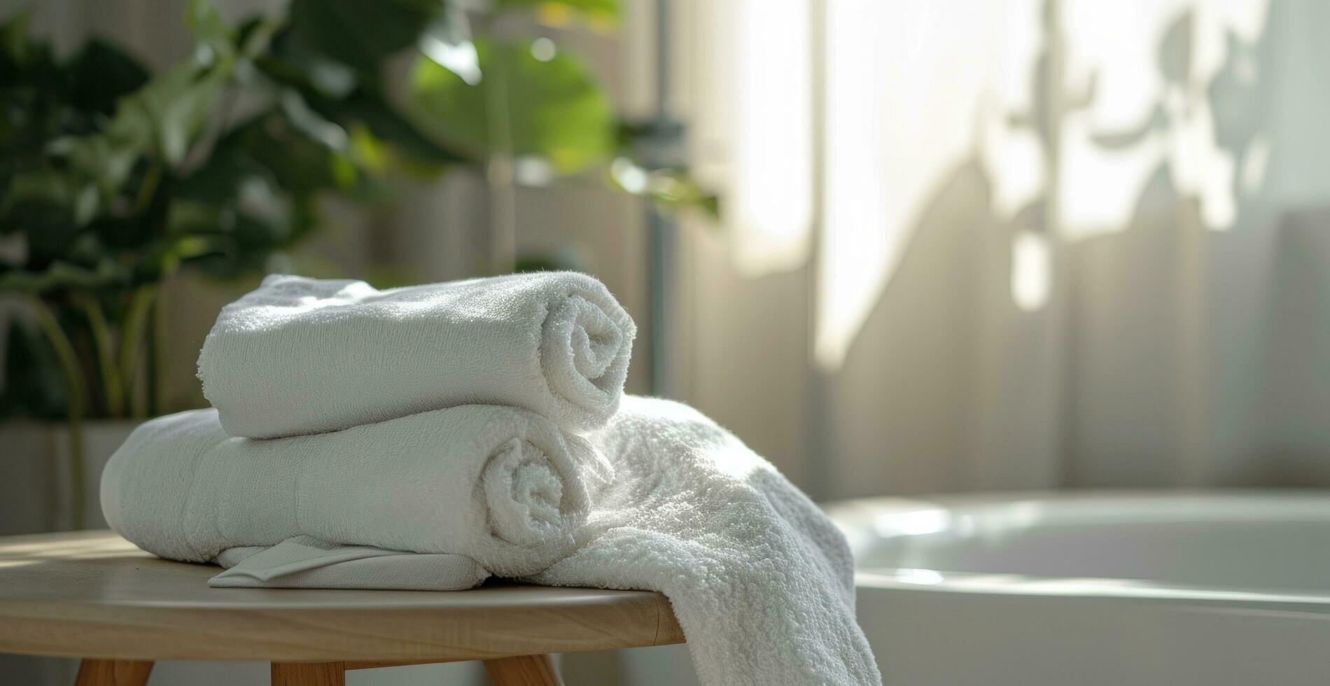
{"label": "lower rolled white towel lying beneath another roll", "polygon": [[540,572],[609,479],[583,439],[524,409],[463,405],[332,433],[227,436],[215,409],[134,429],[102,472],[106,521],[162,557],[209,561],[297,536]]}

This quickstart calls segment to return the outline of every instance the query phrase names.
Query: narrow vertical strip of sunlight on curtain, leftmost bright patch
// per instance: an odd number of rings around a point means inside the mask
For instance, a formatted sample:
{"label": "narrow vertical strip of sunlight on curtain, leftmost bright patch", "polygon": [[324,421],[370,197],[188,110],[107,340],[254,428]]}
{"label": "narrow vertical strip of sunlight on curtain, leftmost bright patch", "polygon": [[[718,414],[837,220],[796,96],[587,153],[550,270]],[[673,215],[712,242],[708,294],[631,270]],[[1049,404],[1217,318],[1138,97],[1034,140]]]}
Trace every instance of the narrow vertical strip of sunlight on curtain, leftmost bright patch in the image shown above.
{"label": "narrow vertical strip of sunlight on curtain, leftmost bright patch", "polygon": [[690,7],[693,172],[722,191],[739,274],[802,267],[813,231],[811,1]]}

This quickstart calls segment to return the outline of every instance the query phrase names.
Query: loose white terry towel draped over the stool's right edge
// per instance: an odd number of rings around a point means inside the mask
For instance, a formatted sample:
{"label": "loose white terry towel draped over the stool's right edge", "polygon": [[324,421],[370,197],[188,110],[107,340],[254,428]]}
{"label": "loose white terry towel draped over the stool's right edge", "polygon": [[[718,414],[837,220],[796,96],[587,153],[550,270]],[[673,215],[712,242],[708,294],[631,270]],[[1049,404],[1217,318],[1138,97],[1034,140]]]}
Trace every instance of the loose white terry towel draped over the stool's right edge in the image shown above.
{"label": "loose white terry towel draped over the stool's right edge", "polygon": [[614,467],[535,581],[669,596],[704,685],[879,685],[850,546],[799,489],[696,409],[624,399],[591,436]]}

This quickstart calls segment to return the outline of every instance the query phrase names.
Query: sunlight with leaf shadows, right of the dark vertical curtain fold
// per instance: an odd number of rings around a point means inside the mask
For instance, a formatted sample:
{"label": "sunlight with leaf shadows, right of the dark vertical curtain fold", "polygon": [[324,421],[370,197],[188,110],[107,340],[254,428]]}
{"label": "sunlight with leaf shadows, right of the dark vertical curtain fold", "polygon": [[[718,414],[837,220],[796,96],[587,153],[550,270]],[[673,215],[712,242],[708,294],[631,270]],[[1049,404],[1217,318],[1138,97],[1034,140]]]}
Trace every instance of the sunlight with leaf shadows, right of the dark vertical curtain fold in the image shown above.
{"label": "sunlight with leaf shadows, right of the dark vertical curtain fold", "polygon": [[1226,36],[1254,40],[1265,13],[1265,0],[1063,3],[1064,88],[1085,94],[1057,122],[1067,239],[1124,230],[1164,169],[1182,195],[1197,198],[1206,226],[1233,225],[1240,170],[1216,140],[1209,86],[1232,65]]}

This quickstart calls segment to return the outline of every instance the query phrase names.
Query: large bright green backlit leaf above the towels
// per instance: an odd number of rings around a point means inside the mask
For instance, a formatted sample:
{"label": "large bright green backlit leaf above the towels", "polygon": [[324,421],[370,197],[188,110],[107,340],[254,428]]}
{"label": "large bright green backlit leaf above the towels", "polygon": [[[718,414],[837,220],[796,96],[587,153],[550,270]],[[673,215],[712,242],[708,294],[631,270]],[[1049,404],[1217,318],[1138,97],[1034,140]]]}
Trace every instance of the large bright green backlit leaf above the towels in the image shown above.
{"label": "large bright green backlit leaf above the towels", "polygon": [[[548,49],[548,47],[547,47]],[[476,41],[480,78],[468,84],[422,56],[411,76],[423,125],[479,154],[537,156],[561,173],[605,158],[614,146],[609,98],[583,62],[529,43]]]}

